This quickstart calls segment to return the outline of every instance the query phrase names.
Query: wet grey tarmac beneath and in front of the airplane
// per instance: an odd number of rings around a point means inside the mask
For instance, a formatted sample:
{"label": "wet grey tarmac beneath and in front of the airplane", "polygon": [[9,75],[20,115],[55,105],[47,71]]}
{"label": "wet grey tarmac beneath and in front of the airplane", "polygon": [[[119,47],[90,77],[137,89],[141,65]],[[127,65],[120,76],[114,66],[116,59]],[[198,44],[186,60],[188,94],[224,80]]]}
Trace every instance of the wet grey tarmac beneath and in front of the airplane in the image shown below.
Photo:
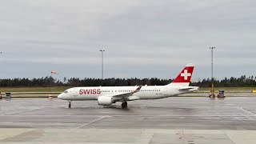
{"label": "wet grey tarmac beneath and in front of the airplane", "polygon": [[0,143],[255,144],[256,97],[172,97],[98,106],[0,100]]}

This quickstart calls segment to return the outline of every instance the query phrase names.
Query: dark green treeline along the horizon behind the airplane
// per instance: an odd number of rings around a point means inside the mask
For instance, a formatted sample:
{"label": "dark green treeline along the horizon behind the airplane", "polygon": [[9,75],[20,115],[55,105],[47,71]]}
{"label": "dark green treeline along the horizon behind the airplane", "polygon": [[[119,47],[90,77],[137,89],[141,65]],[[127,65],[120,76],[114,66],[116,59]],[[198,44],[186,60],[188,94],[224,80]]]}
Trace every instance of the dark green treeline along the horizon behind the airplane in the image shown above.
{"label": "dark green treeline along the horizon behind the airplane", "polygon": [[[64,78],[63,81],[54,79],[52,77],[43,78],[7,78],[0,79],[1,87],[26,87],[26,86],[163,86],[172,82],[173,79],[159,79],[159,78]],[[210,87],[210,78],[198,80],[198,82],[191,82],[190,86]],[[240,78],[224,78],[222,80],[214,80],[216,87],[249,87],[256,86],[256,77],[242,75]]]}

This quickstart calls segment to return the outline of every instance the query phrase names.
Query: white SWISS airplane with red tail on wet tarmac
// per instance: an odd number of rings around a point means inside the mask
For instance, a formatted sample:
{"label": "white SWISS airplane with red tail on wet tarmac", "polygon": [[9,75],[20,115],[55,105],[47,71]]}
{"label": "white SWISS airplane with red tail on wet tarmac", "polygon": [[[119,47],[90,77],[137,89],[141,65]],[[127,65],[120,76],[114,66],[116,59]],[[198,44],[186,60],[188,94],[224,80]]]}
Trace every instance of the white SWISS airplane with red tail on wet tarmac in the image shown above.
{"label": "white SWISS airplane with red tail on wet tarmac", "polygon": [[125,108],[128,101],[168,98],[197,91],[198,86],[189,86],[193,71],[194,65],[187,64],[174,81],[166,86],[74,87],[59,94],[58,98],[70,102],[69,108],[71,108],[72,101],[85,100],[96,100],[100,106],[122,102],[122,108]]}

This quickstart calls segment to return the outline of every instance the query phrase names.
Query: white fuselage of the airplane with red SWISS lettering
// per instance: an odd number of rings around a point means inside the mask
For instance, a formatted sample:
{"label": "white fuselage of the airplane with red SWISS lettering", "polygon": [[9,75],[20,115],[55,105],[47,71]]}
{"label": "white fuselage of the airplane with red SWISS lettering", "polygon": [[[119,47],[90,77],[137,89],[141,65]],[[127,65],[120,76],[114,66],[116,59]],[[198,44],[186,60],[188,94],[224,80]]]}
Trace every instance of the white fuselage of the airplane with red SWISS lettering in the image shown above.
{"label": "white fuselage of the airplane with red SWISS lettering", "polygon": [[[138,99],[159,99],[186,94],[198,90],[198,86],[186,86],[189,89],[181,90],[185,86],[142,86],[142,88],[127,101]],[[97,100],[100,96],[126,94],[136,90],[138,86],[98,86],[74,87],[58,95],[58,98],[69,101]]]}

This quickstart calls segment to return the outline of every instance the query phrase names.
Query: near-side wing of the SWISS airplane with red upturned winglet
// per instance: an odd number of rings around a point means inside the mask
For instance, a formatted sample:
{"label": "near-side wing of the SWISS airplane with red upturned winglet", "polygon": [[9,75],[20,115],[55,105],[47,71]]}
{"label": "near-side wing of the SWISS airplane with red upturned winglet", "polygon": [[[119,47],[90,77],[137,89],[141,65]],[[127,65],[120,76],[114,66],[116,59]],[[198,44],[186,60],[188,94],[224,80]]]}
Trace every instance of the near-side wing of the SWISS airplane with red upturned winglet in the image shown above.
{"label": "near-side wing of the SWISS airplane with red upturned winglet", "polygon": [[134,101],[139,99],[136,96],[133,96],[133,94],[138,93],[139,90],[141,90],[142,86],[138,86],[138,88],[132,92],[129,93],[122,93],[122,94],[116,94],[116,95],[106,95],[106,97],[113,97],[115,100],[125,100],[125,101]]}

